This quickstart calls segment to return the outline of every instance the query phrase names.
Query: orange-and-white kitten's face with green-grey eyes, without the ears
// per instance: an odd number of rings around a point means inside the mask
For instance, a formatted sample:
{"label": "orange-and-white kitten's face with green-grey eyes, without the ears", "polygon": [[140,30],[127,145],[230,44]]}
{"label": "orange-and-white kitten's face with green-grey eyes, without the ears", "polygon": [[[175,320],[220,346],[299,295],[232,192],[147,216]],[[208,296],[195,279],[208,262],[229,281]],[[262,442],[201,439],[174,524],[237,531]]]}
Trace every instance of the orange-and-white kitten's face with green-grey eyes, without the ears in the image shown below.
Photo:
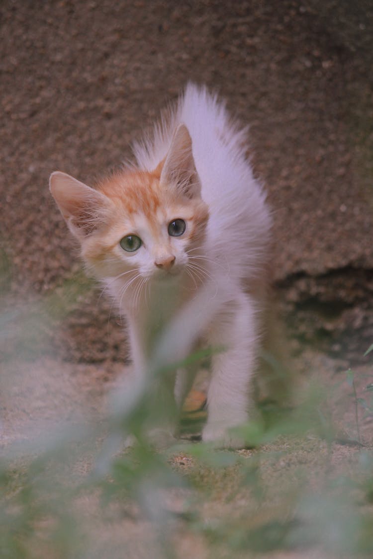
{"label": "orange-and-white kitten's face with green-grey eyes, without the ears", "polygon": [[111,211],[82,241],[83,258],[98,276],[134,271],[167,281],[185,270],[188,253],[204,241],[208,214],[201,198],[182,196],[151,173],[116,176],[100,191],[107,193]]}

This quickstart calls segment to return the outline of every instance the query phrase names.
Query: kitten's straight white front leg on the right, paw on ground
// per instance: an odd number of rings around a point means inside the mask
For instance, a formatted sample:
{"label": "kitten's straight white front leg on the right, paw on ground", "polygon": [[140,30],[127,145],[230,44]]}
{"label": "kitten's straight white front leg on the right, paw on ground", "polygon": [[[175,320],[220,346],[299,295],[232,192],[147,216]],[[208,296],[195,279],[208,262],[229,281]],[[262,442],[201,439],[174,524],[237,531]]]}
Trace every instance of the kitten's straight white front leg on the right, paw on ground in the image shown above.
{"label": "kitten's straight white front leg on the right, paw on ground", "polygon": [[248,420],[252,373],[258,344],[256,309],[248,295],[241,293],[214,320],[209,332],[213,354],[209,390],[208,417],[202,440],[216,446],[242,448],[243,440],[229,429]]}

